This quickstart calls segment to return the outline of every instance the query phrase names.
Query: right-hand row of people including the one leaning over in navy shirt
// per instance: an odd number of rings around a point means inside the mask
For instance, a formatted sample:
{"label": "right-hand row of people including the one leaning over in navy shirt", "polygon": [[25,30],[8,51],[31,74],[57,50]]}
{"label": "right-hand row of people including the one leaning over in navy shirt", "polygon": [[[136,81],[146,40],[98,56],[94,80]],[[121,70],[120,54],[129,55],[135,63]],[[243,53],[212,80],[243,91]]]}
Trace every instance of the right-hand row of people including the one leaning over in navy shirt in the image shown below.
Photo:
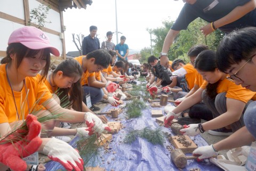
{"label": "right-hand row of people including the one leaning over in navy shirt", "polygon": [[[174,70],[172,83],[159,88],[161,79],[151,77],[147,84],[151,94],[173,92],[177,108],[169,111],[164,125],[174,118],[183,126],[183,135],[195,136],[208,131],[212,135],[229,135],[215,144],[201,146],[193,154],[198,159],[210,158],[220,150],[251,145],[255,141],[255,66],[256,2],[247,1],[183,1],[178,19],[165,37],[160,60],[150,56],[148,63],[157,63]],[[195,45],[187,53],[189,63],[181,59],[169,61],[167,52],[179,31],[196,18],[209,22],[200,28],[209,35],[216,29],[226,33],[217,52]],[[201,119],[206,120],[201,123]],[[185,125],[189,124],[189,125]]]}

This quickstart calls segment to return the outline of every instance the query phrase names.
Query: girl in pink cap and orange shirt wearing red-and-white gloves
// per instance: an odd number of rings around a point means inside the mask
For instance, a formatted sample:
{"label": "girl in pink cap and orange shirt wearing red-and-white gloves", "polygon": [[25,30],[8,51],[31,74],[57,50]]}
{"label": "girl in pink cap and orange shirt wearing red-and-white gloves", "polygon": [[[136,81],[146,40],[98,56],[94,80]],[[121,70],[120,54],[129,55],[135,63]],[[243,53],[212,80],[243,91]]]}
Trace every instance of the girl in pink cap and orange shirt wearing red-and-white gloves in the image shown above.
{"label": "girl in pink cap and orange shirt wearing red-and-white gloves", "polygon": [[[61,108],[52,99],[52,94],[42,81],[46,78],[50,68],[50,53],[55,56],[59,56],[60,53],[57,48],[50,45],[49,38],[42,30],[31,26],[14,30],[9,37],[8,45],[6,56],[1,60],[0,66],[0,168],[6,170],[10,167],[13,170],[26,170],[27,165],[21,159],[22,153],[26,151],[25,154],[28,156],[39,151],[50,159],[60,162],[68,170],[83,170],[83,159],[75,149],[54,137],[48,138],[61,134],[59,132],[61,128],[57,130],[54,127],[55,119],[69,120],[72,123],[85,122],[88,126],[88,128],[66,132],[66,135],[77,135],[81,131],[83,136],[89,136],[93,134],[93,130],[97,130],[100,134],[105,129],[108,131],[111,129],[92,113]],[[38,72],[41,70],[42,76],[39,76]],[[45,110],[41,108],[40,111],[36,111],[38,105],[34,105],[35,103],[43,106]],[[34,112],[36,112],[36,116],[31,114]],[[56,115],[57,112],[61,113],[61,117]],[[31,118],[36,121],[36,117],[42,117],[42,115],[55,118],[44,122],[42,126],[39,125],[40,128],[35,129],[35,131],[40,131],[43,127],[46,130],[45,134],[41,134],[42,139],[38,139],[40,132],[36,132],[35,137],[28,136],[28,139],[18,141],[20,144],[5,142],[9,134],[13,135],[11,131],[19,129],[17,126],[23,122],[23,119],[28,118],[25,122],[26,125],[29,125]],[[23,133],[24,131],[22,131]],[[26,135],[19,136],[19,139],[21,137],[26,138]],[[38,140],[37,143],[34,140]],[[5,143],[3,144],[3,142]],[[30,142],[34,143],[30,144]],[[40,169],[44,170],[45,168],[40,167]]]}

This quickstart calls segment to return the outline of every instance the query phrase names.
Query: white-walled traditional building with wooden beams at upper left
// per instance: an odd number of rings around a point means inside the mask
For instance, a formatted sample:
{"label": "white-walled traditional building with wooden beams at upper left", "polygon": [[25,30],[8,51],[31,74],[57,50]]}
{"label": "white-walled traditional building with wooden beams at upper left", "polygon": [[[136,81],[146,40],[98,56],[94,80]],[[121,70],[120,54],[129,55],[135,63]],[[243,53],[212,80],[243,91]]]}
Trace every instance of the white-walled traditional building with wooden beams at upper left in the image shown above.
{"label": "white-walled traditional building with wooden beams at upper left", "polygon": [[[66,27],[63,25],[63,11],[65,9],[86,9],[92,0],[8,0],[2,1],[0,5],[0,56],[6,55],[6,47],[12,31],[29,25],[30,12],[37,9],[39,5],[49,6],[49,14],[44,27],[50,42],[57,47],[63,59],[66,59],[65,35]],[[33,20],[31,25],[34,25]]]}

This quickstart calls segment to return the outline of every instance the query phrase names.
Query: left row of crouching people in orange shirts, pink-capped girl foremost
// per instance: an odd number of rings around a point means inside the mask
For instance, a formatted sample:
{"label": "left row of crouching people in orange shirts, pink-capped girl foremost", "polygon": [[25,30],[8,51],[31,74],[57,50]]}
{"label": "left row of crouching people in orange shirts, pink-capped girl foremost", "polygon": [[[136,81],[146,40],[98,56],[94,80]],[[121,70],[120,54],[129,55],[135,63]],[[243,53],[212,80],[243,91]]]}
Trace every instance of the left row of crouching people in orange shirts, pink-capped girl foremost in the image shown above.
{"label": "left row of crouching people in orange shirts, pink-capped girl foremost", "polygon": [[[67,170],[83,170],[79,153],[59,137],[111,131],[107,118],[93,113],[93,104],[103,99],[114,106],[119,104],[115,94],[121,91],[118,84],[133,79],[125,74],[129,63],[115,62],[113,50],[98,49],[64,60],[49,73],[50,53],[60,53],[43,31],[31,26],[14,30],[8,45],[0,65],[0,170],[45,170],[42,164],[27,166],[22,160],[36,151]],[[65,129],[60,122],[84,122],[86,127]],[[22,136],[24,125],[28,133]]]}

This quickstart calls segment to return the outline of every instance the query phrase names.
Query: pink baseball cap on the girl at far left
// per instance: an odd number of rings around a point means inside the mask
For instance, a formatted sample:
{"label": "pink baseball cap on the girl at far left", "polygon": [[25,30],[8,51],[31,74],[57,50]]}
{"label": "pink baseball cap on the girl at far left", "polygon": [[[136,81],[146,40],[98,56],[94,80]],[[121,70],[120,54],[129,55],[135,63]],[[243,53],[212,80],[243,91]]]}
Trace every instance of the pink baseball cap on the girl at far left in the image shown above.
{"label": "pink baseball cap on the girl at far left", "polygon": [[60,56],[57,48],[50,45],[49,38],[44,32],[33,26],[25,26],[14,30],[9,37],[8,45],[11,43],[21,43],[32,50],[50,48],[50,52],[55,56]]}

